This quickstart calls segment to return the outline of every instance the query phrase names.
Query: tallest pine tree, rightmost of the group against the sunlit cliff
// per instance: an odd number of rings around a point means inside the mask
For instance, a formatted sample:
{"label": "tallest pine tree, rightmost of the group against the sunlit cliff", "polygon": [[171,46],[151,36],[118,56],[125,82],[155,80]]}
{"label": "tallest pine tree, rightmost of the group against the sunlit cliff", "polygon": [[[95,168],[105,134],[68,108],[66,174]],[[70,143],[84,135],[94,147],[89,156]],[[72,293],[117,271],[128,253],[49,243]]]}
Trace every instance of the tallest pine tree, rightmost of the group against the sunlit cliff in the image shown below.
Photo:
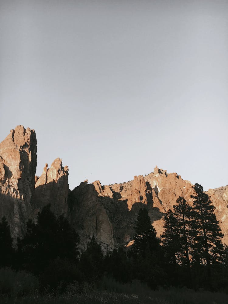
{"label": "tallest pine tree, rightmost of the group against the sunlit cliff", "polygon": [[[214,213],[208,194],[203,192],[199,184],[193,186],[195,195],[193,198],[193,229],[196,231],[196,254],[202,264],[207,265],[208,281],[210,284],[211,264],[221,260],[223,245],[221,229]],[[196,257],[197,258],[197,257]]]}

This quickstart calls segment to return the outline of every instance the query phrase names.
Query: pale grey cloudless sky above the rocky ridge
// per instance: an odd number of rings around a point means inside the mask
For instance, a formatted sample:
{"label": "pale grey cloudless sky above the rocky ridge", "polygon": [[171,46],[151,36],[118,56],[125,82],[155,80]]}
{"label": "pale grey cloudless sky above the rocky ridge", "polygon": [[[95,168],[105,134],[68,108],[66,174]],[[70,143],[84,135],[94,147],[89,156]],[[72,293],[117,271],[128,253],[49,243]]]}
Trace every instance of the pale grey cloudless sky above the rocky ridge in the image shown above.
{"label": "pale grey cloudless sky above the rocky ridge", "polygon": [[228,184],[228,1],[0,0],[0,43],[0,141],[34,129],[37,175]]}

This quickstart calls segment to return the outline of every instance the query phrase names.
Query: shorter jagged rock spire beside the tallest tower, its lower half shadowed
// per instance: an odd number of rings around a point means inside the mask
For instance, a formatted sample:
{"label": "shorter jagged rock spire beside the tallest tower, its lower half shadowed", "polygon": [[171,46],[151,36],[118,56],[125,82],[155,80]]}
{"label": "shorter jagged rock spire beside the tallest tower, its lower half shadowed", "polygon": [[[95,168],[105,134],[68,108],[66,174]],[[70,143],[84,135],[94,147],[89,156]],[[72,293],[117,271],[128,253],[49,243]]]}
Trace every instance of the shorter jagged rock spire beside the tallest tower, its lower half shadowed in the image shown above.
{"label": "shorter jagged rock spire beside the tallest tower, its lower half shadowed", "polygon": [[45,164],[43,174],[36,177],[34,207],[40,211],[47,204],[56,216],[63,214],[68,217],[68,167],[62,166],[62,160],[56,158],[50,168]]}

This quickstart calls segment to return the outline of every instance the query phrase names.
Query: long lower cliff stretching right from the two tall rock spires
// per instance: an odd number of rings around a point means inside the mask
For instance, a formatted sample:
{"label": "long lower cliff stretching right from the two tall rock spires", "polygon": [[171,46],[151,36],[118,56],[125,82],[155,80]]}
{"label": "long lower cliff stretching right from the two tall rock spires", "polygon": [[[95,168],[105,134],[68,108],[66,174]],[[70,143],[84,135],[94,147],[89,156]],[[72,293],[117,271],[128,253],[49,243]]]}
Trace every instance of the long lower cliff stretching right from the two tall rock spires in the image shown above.
{"label": "long lower cliff stretching right from the two tall rock spires", "polygon": [[[70,193],[71,222],[82,240],[95,234],[105,248],[128,245],[133,239],[139,209],[146,206],[157,236],[163,233],[164,215],[173,209],[178,196],[192,204],[192,184],[176,173],[165,170],[123,184],[102,186],[100,181],[81,183]],[[208,191],[216,207],[215,213],[228,244],[228,186]],[[85,242],[86,243],[86,242]],[[85,244],[82,244],[85,246]]]}

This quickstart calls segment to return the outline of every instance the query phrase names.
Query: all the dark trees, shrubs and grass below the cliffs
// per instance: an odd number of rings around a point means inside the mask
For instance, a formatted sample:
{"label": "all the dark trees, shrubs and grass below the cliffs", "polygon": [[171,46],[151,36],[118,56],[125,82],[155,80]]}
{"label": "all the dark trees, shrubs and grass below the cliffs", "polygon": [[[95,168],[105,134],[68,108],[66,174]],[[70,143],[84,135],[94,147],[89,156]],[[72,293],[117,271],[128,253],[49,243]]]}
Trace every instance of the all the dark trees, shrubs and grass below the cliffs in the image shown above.
{"label": "all the dark trees, shrubs and grass below the cliffs", "polygon": [[147,207],[139,210],[134,244],[102,252],[95,236],[81,252],[64,216],[45,206],[12,246],[0,221],[1,303],[228,303],[228,247],[208,195],[195,184],[193,206],[177,199],[162,242]]}

